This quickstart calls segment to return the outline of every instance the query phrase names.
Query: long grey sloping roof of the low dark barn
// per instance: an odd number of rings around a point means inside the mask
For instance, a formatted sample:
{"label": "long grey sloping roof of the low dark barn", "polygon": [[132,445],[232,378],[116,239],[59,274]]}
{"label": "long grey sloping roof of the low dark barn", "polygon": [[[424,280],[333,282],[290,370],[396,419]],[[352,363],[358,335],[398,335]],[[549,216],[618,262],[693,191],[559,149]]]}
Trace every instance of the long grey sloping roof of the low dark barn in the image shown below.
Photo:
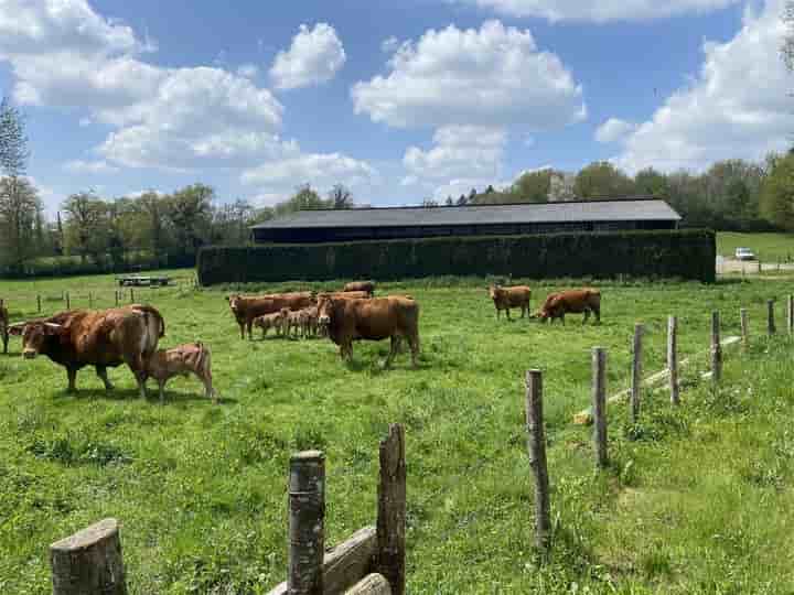
{"label": "long grey sloping roof of the low dark barn", "polygon": [[299,210],[253,229],[416,227],[573,221],[677,221],[664,201],[620,199],[453,207],[374,207]]}

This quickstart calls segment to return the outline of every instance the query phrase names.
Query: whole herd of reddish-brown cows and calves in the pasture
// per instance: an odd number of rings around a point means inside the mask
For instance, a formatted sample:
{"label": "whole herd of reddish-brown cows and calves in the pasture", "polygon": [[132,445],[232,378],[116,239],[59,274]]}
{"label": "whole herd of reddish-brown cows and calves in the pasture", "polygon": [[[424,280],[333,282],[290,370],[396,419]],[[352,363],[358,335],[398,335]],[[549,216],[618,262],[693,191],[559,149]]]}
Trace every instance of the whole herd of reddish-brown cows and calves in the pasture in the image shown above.
{"label": "whole herd of reddish-brown cows and calves in the pasture", "polygon": [[[521,309],[522,317],[541,322],[559,318],[565,324],[568,313],[583,313],[584,324],[590,314],[601,320],[601,294],[596,289],[551,293],[535,314],[529,314],[532,290],[528,286],[489,288],[496,309],[496,317],[511,309]],[[399,353],[403,339],[408,343],[411,364],[419,356],[419,304],[410,295],[375,298],[375,283],[348,283],[339,292],[275,293],[260,296],[239,294],[226,298],[240,329],[240,338],[253,338],[253,327],[275,328],[277,334],[290,336],[328,336],[340,347],[343,359],[353,356],[354,340],[390,339],[385,366]],[[212,380],[212,354],[202,343],[190,343],[171,349],[158,349],[165,335],[165,321],[150,305],[131,304],[109,310],[72,310],[49,318],[10,324],[9,312],[0,300],[0,338],[3,354],[8,353],[9,335],[22,337],[22,355],[32,359],[49,357],[66,368],[68,391],[75,390],[77,371],[94,366],[107,390],[112,385],[107,368],[127,365],[138,390],[146,397],[146,383],[153,378],[164,399],[165,382],[174,376],[195,375],[203,383],[207,398],[217,402]]]}

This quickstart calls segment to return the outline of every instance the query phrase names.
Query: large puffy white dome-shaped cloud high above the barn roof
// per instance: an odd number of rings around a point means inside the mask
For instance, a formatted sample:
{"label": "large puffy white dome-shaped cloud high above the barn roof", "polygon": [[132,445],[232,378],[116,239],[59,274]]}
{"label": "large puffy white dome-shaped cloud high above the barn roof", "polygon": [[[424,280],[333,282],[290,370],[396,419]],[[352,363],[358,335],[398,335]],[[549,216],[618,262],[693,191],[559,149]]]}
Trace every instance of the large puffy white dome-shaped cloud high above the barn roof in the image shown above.
{"label": "large puffy white dome-shaped cloud high above the barn roof", "polygon": [[582,90],[528,30],[487,21],[450,25],[406,42],[390,72],[352,89],[356,113],[389,126],[524,126],[549,129],[586,117]]}

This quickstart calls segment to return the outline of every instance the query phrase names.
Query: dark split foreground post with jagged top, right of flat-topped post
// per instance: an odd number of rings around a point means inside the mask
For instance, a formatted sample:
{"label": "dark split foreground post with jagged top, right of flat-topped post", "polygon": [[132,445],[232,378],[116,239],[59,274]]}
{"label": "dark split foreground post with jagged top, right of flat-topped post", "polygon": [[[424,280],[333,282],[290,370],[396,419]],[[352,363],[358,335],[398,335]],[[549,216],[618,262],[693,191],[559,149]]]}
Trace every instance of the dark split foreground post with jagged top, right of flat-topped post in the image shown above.
{"label": "dark split foreground post with jagged top, right of flat-topped post", "polygon": [[383,574],[395,595],[406,589],[406,461],[405,430],[393,423],[380,442],[377,554],[375,572]]}

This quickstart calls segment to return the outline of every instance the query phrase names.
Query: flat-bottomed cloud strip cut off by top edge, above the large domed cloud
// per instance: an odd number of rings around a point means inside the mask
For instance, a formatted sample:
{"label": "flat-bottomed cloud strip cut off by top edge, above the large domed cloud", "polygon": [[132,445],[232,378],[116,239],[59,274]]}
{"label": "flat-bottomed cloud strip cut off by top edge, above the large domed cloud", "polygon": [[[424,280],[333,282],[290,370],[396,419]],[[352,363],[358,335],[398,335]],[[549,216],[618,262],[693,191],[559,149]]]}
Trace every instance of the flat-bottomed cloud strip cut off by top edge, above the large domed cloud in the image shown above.
{"label": "flat-bottomed cloud strip cut off by top edge, above the large domed cloud", "polygon": [[642,21],[720,10],[741,0],[458,0],[508,17],[550,21]]}

